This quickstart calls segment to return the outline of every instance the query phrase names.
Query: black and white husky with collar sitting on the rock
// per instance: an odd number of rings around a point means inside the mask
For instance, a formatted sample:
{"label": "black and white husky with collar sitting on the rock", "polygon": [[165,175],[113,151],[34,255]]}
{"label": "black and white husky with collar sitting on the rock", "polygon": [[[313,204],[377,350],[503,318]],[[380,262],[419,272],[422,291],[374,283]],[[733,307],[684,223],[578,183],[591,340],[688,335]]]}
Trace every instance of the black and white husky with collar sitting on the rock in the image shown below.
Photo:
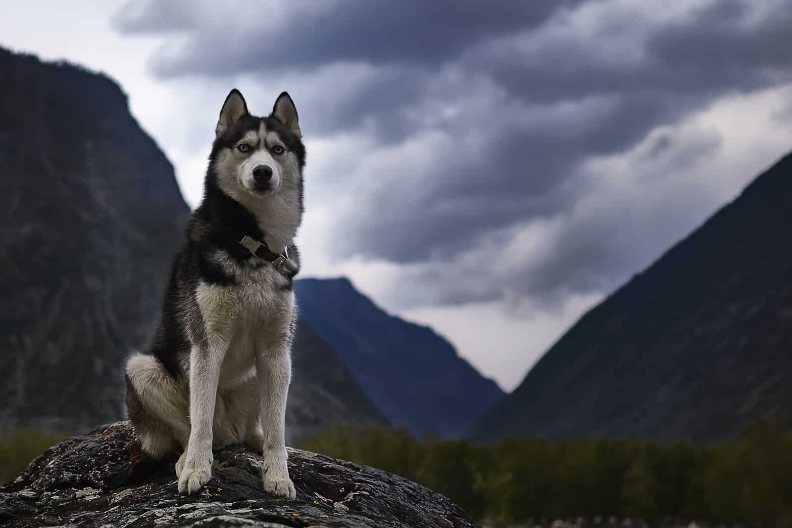
{"label": "black and white husky with collar sitting on the rock", "polygon": [[281,93],[268,117],[238,90],[220,111],[204,199],[176,256],[154,344],[127,362],[127,407],[153,457],[184,450],[179,492],[211,477],[211,448],[262,452],[268,492],[289,499],[286,395],[303,216],[297,110]]}

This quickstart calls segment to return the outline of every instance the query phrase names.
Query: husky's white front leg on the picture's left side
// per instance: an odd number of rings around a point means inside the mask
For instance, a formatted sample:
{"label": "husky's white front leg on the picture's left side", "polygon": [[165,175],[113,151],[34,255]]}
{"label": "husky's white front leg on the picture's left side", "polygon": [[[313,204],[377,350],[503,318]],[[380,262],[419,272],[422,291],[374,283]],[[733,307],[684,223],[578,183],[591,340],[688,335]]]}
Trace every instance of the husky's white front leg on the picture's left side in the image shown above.
{"label": "husky's white front leg on the picture's left side", "polygon": [[179,492],[197,492],[211,477],[212,422],[227,342],[211,335],[206,345],[197,345],[190,354],[190,439],[184,468],[179,475]]}

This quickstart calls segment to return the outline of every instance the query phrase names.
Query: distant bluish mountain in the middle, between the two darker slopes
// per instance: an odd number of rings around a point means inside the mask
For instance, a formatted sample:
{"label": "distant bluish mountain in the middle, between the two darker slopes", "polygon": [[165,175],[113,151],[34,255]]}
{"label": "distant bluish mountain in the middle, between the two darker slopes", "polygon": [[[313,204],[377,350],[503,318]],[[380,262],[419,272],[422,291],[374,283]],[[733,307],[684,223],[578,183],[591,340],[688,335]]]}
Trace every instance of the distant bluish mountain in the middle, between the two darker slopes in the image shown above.
{"label": "distant bluish mountain in the middle, between the two darker slopes", "polygon": [[346,278],[295,281],[300,316],[394,425],[461,437],[503,393],[444,338],[386,314]]}

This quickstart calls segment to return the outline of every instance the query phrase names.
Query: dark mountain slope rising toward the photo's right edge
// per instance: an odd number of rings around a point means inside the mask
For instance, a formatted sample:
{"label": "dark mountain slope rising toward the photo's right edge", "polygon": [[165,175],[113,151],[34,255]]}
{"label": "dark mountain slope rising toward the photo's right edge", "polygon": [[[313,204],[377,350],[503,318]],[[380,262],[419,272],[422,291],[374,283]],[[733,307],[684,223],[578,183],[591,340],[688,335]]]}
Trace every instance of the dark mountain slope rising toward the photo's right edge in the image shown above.
{"label": "dark mountain slope rising toward the photo's right edge", "polygon": [[585,314],[479,425],[493,441],[792,425],[792,154]]}

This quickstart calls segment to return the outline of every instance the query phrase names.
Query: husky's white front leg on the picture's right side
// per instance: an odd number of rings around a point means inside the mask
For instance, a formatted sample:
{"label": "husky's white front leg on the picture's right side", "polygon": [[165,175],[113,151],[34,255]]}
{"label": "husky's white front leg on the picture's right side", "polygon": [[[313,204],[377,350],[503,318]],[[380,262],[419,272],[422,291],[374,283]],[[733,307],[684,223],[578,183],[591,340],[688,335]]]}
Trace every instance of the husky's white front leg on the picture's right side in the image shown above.
{"label": "husky's white front leg on the picture's right side", "polygon": [[261,478],[268,492],[294,499],[295,485],[286,465],[286,396],[291,381],[289,345],[284,343],[257,354],[256,370],[261,383],[261,425],[264,426],[264,461]]}

